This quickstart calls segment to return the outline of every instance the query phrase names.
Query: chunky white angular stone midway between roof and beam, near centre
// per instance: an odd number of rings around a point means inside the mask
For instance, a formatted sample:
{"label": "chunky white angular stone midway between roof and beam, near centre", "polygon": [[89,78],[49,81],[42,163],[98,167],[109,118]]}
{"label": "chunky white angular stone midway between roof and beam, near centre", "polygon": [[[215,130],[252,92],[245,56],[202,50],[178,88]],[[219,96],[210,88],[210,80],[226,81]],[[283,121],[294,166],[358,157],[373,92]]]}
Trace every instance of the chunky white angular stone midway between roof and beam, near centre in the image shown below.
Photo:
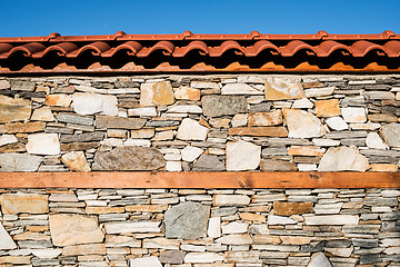
{"label": "chunky white angular stone midway between roof and beam, near centre", "polygon": [[184,118],[178,128],[177,138],[181,140],[204,141],[208,131],[208,128],[201,126],[198,121],[190,118]]}

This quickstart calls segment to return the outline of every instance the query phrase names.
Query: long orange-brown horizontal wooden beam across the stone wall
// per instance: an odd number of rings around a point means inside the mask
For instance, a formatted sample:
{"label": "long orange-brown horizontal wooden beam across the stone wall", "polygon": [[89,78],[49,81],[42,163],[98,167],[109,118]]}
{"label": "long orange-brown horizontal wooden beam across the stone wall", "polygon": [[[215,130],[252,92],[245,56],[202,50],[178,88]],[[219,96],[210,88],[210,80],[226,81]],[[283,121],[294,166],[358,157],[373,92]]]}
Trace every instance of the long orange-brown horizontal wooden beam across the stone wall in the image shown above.
{"label": "long orange-brown horizontal wooden beam across the stone wall", "polygon": [[400,172],[0,172],[0,188],[400,188]]}

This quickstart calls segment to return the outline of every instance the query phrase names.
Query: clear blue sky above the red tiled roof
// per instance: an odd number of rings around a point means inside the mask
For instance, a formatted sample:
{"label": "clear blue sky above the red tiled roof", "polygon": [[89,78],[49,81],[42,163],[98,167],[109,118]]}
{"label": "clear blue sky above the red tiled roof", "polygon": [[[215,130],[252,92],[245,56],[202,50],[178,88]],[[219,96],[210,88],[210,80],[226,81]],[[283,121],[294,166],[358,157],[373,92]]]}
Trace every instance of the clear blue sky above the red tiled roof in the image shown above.
{"label": "clear blue sky above the red tiled roof", "polygon": [[0,37],[127,33],[400,33],[400,0],[1,0]]}

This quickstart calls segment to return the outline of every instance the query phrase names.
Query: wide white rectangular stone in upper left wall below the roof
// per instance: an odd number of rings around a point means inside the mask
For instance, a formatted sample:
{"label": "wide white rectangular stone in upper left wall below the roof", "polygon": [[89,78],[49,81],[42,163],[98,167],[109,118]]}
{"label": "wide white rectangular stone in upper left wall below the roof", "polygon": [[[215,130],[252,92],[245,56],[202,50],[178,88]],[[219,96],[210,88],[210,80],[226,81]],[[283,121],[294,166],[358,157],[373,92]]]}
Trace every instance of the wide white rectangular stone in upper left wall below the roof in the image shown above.
{"label": "wide white rectangular stone in upper left wall below the roof", "polygon": [[116,96],[76,92],[72,95],[72,107],[79,115],[118,115]]}

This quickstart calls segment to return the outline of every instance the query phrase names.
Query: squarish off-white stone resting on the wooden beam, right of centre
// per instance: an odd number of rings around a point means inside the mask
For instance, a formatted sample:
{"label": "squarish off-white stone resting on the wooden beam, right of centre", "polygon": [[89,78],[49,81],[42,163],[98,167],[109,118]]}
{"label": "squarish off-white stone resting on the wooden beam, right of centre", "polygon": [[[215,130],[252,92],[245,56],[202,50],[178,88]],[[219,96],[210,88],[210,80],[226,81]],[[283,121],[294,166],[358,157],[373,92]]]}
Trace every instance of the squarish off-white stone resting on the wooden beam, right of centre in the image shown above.
{"label": "squarish off-white stone resting on the wooden beam, right of centre", "polygon": [[239,140],[227,144],[227,170],[253,170],[261,161],[261,146]]}

